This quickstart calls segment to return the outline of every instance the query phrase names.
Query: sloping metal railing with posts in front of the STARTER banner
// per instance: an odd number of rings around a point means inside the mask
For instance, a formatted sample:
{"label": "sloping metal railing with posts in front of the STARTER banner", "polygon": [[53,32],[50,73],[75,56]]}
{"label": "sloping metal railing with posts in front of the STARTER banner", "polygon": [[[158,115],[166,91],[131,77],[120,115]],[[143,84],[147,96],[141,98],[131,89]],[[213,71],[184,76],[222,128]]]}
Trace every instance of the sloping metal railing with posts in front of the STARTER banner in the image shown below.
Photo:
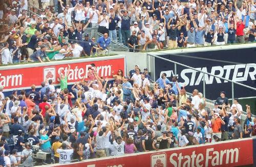
{"label": "sloping metal railing with posts in front of the STARTER banner", "polygon": [[[166,54],[165,54],[165,55],[166,55]],[[188,66],[188,65],[185,65],[185,64],[182,64],[182,63],[173,61],[173,60],[169,60],[169,59],[162,58],[162,57],[159,57],[159,56],[156,56],[156,55],[152,55],[152,54],[147,54],[147,56],[152,56],[152,57],[155,57],[155,58],[158,58],[158,59],[161,59],[161,60],[165,60],[165,61],[174,63],[174,73],[175,73],[175,75],[177,75],[177,65],[180,65],[180,66],[183,66],[183,67],[186,67],[186,68],[189,68],[189,69],[193,69],[193,70],[195,70],[195,71],[198,71],[198,72],[200,72],[200,73],[203,73],[203,74],[204,74],[204,75],[203,75],[203,97],[205,97],[205,75],[213,76],[213,77],[222,79],[222,80],[224,80],[224,81],[231,82],[232,102],[233,102],[233,99],[234,99],[234,84],[237,84],[237,85],[246,87],[246,88],[251,89],[251,90],[256,90],[256,88],[254,88],[254,87],[251,87],[251,86],[248,86],[248,85],[244,85],[244,84],[241,84],[241,83],[239,83],[239,82],[232,81],[232,80],[229,80],[229,79],[226,79],[226,78],[223,78],[223,77],[219,77],[219,76],[217,76],[217,75],[207,73],[207,72],[205,72],[205,71],[199,70],[199,69],[194,68],[194,67],[190,67],[190,66]]]}

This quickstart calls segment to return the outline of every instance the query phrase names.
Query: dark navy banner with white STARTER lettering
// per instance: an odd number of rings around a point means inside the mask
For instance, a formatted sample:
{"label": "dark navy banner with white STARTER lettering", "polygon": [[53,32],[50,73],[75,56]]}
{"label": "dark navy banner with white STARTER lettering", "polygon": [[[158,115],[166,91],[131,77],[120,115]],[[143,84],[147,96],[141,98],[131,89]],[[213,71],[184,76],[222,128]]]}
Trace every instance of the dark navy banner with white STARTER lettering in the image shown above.
{"label": "dark navy banner with white STARTER lettering", "polygon": [[[215,50],[204,52],[182,52],[178,55],[163,54],[160,57],[173,60],[210,74],[236,81],[251,87],[256,85],[256,55],[254,48]],[[155,58],[156,80],[160,74],[166,73],[172,81],[175,73],[174,63]],[[198,89],[203,92],[203,73],[177,65],[179,82],[183,83],[188,92]],[[226,97],[231,98],[231,83],[216,77],[205,75],[206,99],[216,100],[220,91],[226,92]],[[234,84],[234,97],[254,97],[256,91]]]}

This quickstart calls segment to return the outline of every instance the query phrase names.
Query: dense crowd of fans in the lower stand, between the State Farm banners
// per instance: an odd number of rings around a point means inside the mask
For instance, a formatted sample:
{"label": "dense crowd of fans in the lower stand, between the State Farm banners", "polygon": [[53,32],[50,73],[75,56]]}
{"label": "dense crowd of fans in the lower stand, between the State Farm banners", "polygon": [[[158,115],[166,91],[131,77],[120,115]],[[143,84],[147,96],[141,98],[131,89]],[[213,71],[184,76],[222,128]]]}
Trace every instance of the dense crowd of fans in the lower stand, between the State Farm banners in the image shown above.
{"label": "dense crowd of fans in the lower stand, between the State Farm banners", "polygon": [[0,165],[33,166],[31,145],[52,153],[55,163],[70,163],[256,134],[250,106],[241,125],[239,99],[230,106],[224,91],[209,109],[202,93],[195,89],[187,96],[175,76],[169,81],[163,73],[154,82],[147,68],[135,65],[126,77],[119,69],[112,82],[95,69],[92,64],[90,80],[75,83],[72,91],[69,70],[60,71],[60,87],[46,79],[38,90],[32,85],[8,97],[0,87]]}

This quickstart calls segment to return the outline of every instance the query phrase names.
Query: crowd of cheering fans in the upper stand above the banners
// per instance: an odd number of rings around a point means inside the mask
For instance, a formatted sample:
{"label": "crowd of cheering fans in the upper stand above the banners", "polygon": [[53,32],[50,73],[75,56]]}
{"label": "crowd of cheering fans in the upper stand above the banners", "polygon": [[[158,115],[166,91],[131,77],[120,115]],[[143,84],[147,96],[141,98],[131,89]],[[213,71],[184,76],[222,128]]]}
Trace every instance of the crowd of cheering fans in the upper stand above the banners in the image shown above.
{"label": "crowd of cheering fans in the upper stand above the banners", "polygon": [[[4,0],[0,4],[1,60],[8,64],[26,58],[42,62],[105,54],[111,38],[129,46],[131,52],[254,42],[255,3]],[[34,13],[29,15],[28,10]],[[93,30],[84,34],[88,27]],[[104,34],[97,41],[96,32]]]}

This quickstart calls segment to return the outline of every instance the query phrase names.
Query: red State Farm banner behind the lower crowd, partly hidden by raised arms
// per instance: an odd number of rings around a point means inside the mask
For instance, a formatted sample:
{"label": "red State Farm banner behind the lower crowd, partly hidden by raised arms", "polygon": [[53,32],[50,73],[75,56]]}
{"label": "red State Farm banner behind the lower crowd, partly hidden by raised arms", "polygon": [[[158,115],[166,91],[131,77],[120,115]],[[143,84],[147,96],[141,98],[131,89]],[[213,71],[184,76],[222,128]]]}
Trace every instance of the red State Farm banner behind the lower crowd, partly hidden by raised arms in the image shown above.
{"label": "red State Farm banner behind the lower crowd, partly hidden by raised arms", "polygon": [[117,74],[118,69],[124,71],[125,67],[124,57],[121,56],[42,63],[44,65],[34,63],[3,66],[0,68],[0,85],[4,86],[4,91],[10,89],[26,89],[31,87],[32,84],[40,86],[41,82],[45,81],[45,78],[52,79],[54,84],[58,84],[59,71],[62,70],[62,73],[67,71],[68,64],[71,66],[68,83],[71,84],[80,81],[83,77],[87,79],[88,68],[91,67],[90,64],[92,63],[96,66],[98,76],[103,78],[112,78],[112,73]]}

